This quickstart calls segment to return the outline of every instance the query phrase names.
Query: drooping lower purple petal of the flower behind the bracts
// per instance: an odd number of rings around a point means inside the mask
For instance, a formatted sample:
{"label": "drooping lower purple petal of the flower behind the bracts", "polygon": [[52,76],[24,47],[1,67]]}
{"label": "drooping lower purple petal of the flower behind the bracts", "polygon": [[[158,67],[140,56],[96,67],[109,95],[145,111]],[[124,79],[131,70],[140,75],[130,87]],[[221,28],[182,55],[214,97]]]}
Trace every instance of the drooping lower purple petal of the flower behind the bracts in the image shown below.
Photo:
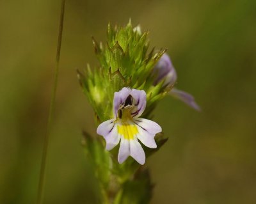
{"label": "drooping lower purple petal of the flower behind the bracts", "polygon": [[198,106],[198,104],[196,104],[195,98],[191,94],[189,94],[185,91],[180,91],[180,90],[177,90],[176,88],[173,88],[170,91],[170,95],[172,95],[175,98],[178,98],[179,100],[181,100],[188,106],[192,107],[193,109],[196,109],[196,111],[201,110],[200,106]]}

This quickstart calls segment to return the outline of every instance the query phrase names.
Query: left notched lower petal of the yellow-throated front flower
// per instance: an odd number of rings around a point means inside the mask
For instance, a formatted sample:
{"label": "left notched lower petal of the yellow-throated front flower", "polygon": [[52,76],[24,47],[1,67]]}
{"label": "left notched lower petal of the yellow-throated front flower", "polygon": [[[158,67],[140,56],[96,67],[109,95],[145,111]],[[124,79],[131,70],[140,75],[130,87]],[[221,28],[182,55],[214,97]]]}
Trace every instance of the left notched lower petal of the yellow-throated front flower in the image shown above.
{"label": "left notched lower petal of the yellow-throated front flower", "polygon": [[112,150],[120,141],[117,125],[115,125],[113,119],[101,123],[97,128],[97,134],[103,136],[106,140],[106,150]]}

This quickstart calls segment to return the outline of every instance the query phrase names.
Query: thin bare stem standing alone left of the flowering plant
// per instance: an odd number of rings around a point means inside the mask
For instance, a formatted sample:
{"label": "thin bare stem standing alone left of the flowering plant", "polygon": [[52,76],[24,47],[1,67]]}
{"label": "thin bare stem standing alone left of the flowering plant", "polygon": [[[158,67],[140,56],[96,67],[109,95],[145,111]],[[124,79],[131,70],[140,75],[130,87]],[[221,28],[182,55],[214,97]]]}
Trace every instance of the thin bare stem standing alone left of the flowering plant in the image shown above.
{"label": "thin bare stem standing alone left of the flowering plant", "polygon": [[47,121],[47,129],[46,129],[45,138],[44,138],[44,146],[43,146],[42,161],[41,161],[41,168],[40,168],[40,178],[39,178],[39,184],[38,184],[38,194],[37,194],[37,201],[36,201],[37,204],[41,204],[43,202],[43,195],[44,195],[45,166],[46,166],[46,160],[47,160],[49,135],[51,132],[51,125],[52,125],[52,115],[54,113],[56,90],[57,90],[57,84],[58,84],[64,11],[65,11],[65,0],[62,0],[61,14],[60,14],[60,27],[59,27],[59,35],[58,35],[58,45],[57,45],[57,52],[56,52],[56,67],[55,67],[55,73],[54,73],[54,84],[53,84],[53,88],[52,88],[51,104],[50,104],[49,116],[48,116],[48,121]]}

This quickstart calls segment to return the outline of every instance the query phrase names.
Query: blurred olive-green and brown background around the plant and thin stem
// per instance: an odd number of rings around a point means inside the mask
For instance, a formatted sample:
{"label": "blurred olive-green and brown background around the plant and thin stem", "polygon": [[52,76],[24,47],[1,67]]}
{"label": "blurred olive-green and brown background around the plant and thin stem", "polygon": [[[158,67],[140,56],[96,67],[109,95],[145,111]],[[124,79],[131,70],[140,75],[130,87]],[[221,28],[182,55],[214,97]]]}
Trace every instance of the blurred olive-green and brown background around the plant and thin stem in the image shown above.
{"label": "blurred olive-green and brown background around the plant and thin stem", "polygon": [[[0,203],[35,203],[51,97],[60,1],[0,1]],[[76,68],[98,65],[91,36],[131,17],[167,48],[181,90],[155,120],[170,139],[148,158],[152,203],[255,203],[256,1],[67,1],[45,203],[95,203],[81,131],[95,134]]]}

